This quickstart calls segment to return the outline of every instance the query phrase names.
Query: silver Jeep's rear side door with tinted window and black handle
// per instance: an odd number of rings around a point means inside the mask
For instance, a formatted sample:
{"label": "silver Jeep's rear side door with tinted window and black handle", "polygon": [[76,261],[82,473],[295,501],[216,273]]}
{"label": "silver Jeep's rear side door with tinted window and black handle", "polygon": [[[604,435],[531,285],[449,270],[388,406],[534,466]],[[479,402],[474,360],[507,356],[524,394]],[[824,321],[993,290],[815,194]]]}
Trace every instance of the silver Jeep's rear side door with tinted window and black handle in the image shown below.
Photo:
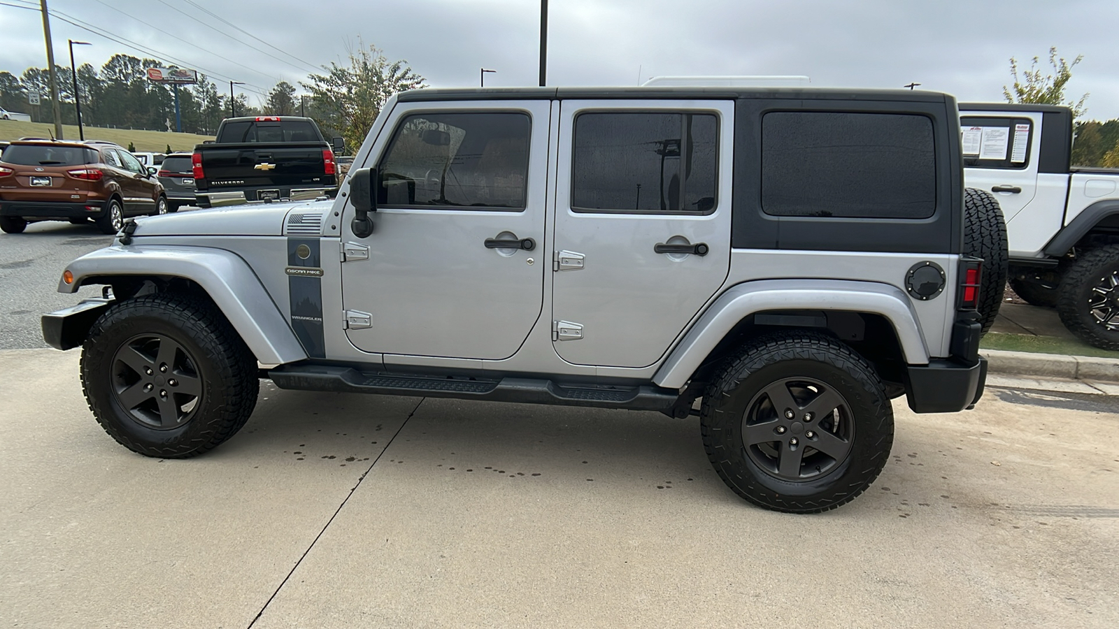
{"label": "silver Jeep's rear side door with tinted window and black handle", "polygon": [[553,345],[577,365],[645,367],[730,267],[734,104],[564,101]]}

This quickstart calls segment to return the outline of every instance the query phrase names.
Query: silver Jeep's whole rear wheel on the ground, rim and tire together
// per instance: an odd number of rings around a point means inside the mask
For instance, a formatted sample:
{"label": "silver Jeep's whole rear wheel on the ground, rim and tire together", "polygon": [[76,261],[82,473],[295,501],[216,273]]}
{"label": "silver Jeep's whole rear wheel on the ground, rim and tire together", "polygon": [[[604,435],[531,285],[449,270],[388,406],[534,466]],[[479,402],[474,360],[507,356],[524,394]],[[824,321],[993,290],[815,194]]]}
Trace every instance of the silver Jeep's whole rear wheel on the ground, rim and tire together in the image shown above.
{"label": "silver Jeep's whole rear wheel on the ground, rim and tire together", "polygon": [[746,500],[810,514],[853,500],[878,477],[894,414],[874,368],[818,332],[779,332],[728,359],[703,398],[707,458]]}

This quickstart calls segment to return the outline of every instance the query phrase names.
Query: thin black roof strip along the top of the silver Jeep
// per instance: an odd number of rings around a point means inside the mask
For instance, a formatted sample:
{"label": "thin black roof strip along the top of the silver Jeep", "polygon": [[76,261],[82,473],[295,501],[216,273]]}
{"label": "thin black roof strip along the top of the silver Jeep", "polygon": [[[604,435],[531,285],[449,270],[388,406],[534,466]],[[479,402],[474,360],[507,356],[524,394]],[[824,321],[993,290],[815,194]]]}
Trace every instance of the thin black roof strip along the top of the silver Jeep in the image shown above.
{"label": "thin black roof strip along the top of the silver Jeep", "polygon": [[836,101],[944,102],[940,92],[923,90],[873,90],[840,87],[440,87],[410,90],[397,95],[401,102],[492,101],[544,98],[803,98]]}

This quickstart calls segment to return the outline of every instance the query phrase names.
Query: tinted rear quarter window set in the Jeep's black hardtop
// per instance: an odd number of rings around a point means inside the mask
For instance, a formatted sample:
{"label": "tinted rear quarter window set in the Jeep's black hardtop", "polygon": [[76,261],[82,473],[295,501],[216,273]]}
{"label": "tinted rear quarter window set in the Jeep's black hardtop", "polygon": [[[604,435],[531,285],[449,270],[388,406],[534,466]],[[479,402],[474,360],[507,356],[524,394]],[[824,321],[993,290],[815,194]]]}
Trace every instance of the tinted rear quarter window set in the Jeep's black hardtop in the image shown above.
{"label": "tinted rear quarter window set in the Jeep's black hardtop", "polygon": [[912,114],[768,113],[761,193],[762,208],[773,216],[928,218],[937,207],[932,121]]}

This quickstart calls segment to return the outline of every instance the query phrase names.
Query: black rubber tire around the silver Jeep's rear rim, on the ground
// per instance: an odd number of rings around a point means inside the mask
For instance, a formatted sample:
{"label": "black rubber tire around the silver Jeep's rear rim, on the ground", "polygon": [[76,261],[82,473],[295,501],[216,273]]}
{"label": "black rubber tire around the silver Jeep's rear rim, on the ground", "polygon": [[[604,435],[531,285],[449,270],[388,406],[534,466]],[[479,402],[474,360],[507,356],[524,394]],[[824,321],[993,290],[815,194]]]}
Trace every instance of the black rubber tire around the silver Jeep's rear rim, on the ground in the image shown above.
{"label": "black rubber tire around the silver Jeep's rear rim, on the ground", "polygon": [[[844,460],[834,461],[818,476],[786,480],[756,462],[760,451],[746,444],[745,419],[767,389],[797,378],[816,381],[824,392],[830,388],[846,401],[848,451]],[[791,389],[786,386],[784,391]],[[794,419],[803,419],[798,413],[814,407],[811,400],[801,405],[800,398],[793,397],[793,403],[798,405]],[[764,402],[761,407],[765,407]],[[780,422],[782,411],[771,410]],[[799,430],[803,461],[810,461],[807,431],[824,429],[828,416],[820,414],[799,426],[790,423],[784,430],[774,428],[782,430],[782,435],[774,433],[768,445],[775,444],[774,450],[783,454],[782,448],[791,448],[789,438]],[[760,507],[800,514],[830,510],[855,499],[878,477],[894,439],[893,407],[874,368],[843,342],[812,331],[760,337],[725,360],[704,393],[699,425],[707,458],[727,487]],[[833,426],[838,429],[836,422]],[[797,464],[806,464],[803,461]]]}

